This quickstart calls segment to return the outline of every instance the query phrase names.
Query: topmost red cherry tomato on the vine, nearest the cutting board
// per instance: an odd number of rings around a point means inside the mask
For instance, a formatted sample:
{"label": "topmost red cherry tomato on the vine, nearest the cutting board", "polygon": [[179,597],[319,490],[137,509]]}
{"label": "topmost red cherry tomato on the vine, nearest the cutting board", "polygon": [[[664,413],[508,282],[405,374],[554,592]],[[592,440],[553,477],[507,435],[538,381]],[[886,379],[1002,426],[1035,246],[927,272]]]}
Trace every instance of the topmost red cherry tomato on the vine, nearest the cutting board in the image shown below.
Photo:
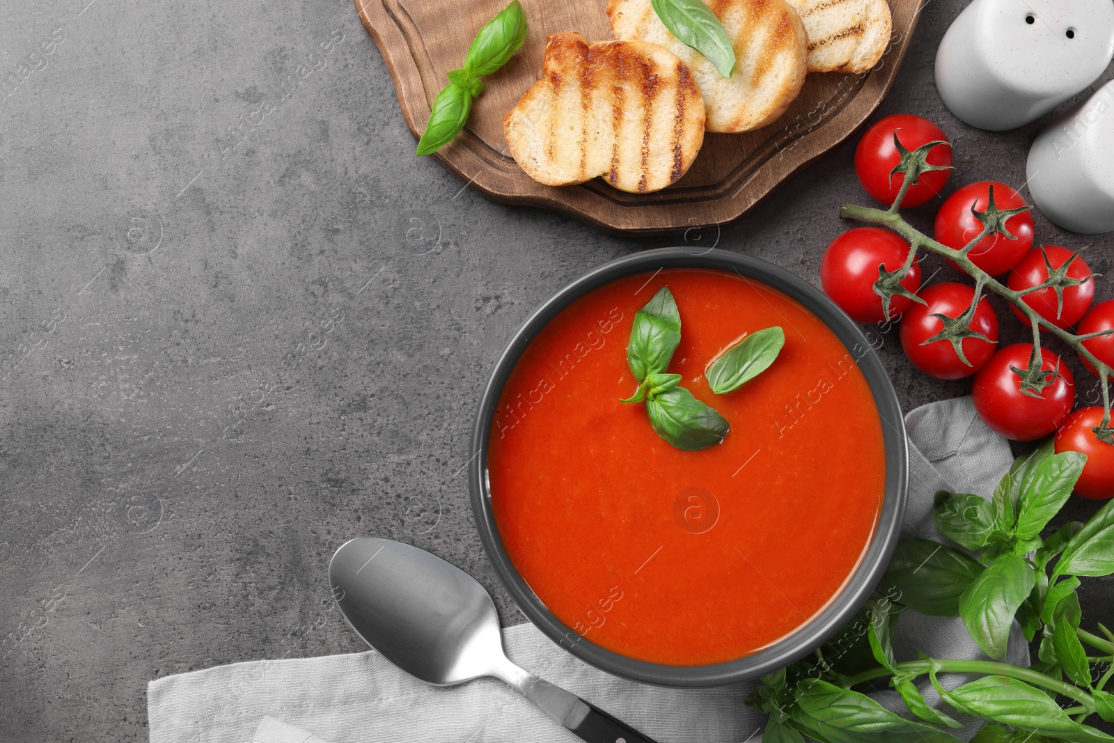
{"label": "topmost red cherry tomato on the vine, nearest the cutting board", "polygon": [[[863,189],[877,201],[889,206],[898,197],[905,174],[892,175],[901,163],[901,155],[893,146],[897,131],[901,146],[912,151],[930,141],[949,141],[948,135],[928,119],[911,114],[895,114],[870,125],[854,150],[854,173]],[[937,145],[928,151],[929,165],[951,166],[951,144]],[[917,183],[909,186],[901,206],[920,206],[944,189],[951,170],[929,170],[922,173]]]}

